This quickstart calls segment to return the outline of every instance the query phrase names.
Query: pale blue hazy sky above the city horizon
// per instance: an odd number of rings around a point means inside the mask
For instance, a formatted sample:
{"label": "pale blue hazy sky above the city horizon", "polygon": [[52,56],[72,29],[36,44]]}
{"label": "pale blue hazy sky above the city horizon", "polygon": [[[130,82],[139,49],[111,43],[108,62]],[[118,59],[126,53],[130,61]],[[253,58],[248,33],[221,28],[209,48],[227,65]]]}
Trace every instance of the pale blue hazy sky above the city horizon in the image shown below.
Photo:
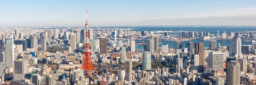
{"label": "pale blue hazy sky above the city horizon", "polygon": [[255,25],[256,20],[256,0],[2,0],[0,27],[83,26],[86,8],[89,25]]}

